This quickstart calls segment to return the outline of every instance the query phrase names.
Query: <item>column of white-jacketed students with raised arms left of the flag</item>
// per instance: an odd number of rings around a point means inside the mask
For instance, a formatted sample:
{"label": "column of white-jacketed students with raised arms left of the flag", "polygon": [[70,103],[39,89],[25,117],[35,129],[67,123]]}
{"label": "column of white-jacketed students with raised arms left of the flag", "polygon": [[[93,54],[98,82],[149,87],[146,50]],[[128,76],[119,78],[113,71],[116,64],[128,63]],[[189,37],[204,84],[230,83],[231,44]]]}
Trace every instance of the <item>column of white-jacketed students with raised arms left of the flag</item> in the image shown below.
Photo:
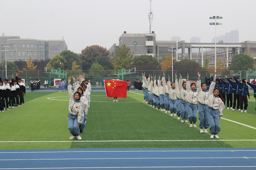
{"label": "column of white-jacketed students with raised arms left of the flag", "polygon": [[85,127],[88,108],[90,108],[90,80],[84,79],[84,76],[79,75],[79,82],[76,82],[73,77],[72,91],[71,77],[68,79],[68,93],[69,93],[69,113],[68,113],[68,129],[72,136],[70,139],[82,139],[80,133],[83,133]]}

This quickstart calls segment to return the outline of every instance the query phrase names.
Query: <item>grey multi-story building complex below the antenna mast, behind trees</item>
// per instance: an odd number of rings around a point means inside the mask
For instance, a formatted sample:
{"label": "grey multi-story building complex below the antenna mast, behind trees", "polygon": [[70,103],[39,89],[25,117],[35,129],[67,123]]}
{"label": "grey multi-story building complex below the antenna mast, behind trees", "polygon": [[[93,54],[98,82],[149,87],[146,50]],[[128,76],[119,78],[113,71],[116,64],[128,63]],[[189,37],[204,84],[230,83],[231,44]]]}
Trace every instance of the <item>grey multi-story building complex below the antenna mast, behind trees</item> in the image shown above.
{"label": "grey multi-story building complex below the antenna mast, behind trees", "polygon": [[[157,41],[154,31],[152,34],[126,34],[124,32],[119,37],[119,45],[113,44],[109,51],[109,58],[116,55],[116,49],[121,45],[127,45],[135,56],[151,55],[159,61],[161,57],[172,54],[173,59],[193,59],[200,65],[204,65],[204,60],[209,59],[209,65],[215,64],[215,43],[199,43],[185,41]],[[194,52],[194,49],[196,52]],[[216,43],[217,60],[227,61],[226,66],[230,66],[233,55],[250,51],[252,56],[256,56],[256,41],[244,41],[239,43]],[[256,59],[256,57],[254,58]]]}

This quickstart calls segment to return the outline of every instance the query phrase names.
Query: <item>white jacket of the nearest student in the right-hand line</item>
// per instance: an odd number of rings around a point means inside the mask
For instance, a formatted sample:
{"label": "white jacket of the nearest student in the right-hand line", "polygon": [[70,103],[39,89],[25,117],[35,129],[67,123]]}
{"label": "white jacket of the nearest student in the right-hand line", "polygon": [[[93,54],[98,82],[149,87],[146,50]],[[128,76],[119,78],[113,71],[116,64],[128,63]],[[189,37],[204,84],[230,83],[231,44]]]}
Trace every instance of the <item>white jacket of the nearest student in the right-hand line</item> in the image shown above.
{"label": "white jacket of the nearest student in the right-hand line", "polygon": [[222,102],[221,98],[213,94],[214,87],[215,81],[213,81],[209,87],[208,106],[212,109],[218,110],[219,115],[222,116],[222,112],[224,111],[224,102]]}

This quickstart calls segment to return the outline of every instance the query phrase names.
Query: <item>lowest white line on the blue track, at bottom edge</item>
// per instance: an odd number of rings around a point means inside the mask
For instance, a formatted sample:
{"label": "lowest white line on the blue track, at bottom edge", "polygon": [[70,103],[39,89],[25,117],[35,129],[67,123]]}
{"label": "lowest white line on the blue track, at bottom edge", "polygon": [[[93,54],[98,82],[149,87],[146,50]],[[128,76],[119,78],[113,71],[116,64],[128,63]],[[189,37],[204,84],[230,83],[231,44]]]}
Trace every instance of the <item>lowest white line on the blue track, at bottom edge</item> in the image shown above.
{"label": "lowest white line on the blue track, at bottom edge", "polygon": [[113,169],[113,168],[224,168],[224,167],[256,167],[256,166],[180,166],[180,167],[33,167],[33,168],[0,168],[0,170],[48,170],[48,169]]}

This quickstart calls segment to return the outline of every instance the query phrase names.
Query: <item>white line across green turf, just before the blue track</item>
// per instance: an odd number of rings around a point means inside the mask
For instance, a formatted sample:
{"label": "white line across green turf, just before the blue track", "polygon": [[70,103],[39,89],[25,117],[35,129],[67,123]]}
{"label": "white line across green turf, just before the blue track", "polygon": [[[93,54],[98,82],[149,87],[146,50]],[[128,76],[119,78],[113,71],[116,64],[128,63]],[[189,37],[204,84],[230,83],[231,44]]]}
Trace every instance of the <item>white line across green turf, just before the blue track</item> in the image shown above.
{"label": "white line across green turf, just before the blue track", "polygon": [[223,142],[223,141],[256,141],[256,139],[227,139],[227,140],[111,140],[111,141],[0,141],[0,143],[39,143],[39,142]]}

